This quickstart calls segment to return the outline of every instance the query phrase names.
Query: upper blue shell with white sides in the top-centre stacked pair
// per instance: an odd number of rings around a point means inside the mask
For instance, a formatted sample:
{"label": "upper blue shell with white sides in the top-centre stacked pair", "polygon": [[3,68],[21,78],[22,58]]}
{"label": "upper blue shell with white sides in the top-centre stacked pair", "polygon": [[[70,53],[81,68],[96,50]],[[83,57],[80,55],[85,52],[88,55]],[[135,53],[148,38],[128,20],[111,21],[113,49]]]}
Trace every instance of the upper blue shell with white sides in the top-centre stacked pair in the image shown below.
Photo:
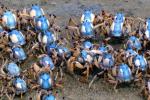
{"label": "upper blue shell with white sides in the top-centre stacked pair", "polygon": [[81,23],[83,23],[84,21],[93,23],[94,18],[95,15],[90,10],[86,10],[81,16]]}

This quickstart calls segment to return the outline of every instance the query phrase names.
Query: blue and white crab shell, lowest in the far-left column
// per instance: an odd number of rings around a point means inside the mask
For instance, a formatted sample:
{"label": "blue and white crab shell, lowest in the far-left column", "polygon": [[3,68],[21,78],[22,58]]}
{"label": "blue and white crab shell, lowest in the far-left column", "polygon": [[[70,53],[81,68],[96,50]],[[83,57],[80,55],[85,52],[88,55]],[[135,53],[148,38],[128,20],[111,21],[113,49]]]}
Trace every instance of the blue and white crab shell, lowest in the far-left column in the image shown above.
{"label": "blue and white crab shell, lowest in the far-left column", "polygon": [[13,80],[13,85],[14,85],[14,87],[16,89],[16,93],[17,94],[25,93],[27,91],[27,84],[26,84],[26,82],[23,79],[19,78],[19,77],[15,78]]}

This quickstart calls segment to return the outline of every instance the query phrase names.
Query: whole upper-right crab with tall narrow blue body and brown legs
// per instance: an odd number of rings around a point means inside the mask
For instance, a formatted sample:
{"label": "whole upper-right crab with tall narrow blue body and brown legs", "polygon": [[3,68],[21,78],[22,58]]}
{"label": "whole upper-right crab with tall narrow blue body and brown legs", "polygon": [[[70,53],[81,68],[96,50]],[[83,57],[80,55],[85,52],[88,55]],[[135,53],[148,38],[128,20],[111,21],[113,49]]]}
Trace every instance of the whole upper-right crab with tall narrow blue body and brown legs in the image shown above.
{"label": "whole upper-right crab with tall narrow blue body and brown legs", "polygon": [[132,23],[128,18],[125,18],[122,12],[117,12],[113,19],[113,22],[108,22],[108,25],[104,27],[107,32],[106,35],[109,36],[106,37],[106,40],[122,39],[122,37],[128,36],[131,33]]}

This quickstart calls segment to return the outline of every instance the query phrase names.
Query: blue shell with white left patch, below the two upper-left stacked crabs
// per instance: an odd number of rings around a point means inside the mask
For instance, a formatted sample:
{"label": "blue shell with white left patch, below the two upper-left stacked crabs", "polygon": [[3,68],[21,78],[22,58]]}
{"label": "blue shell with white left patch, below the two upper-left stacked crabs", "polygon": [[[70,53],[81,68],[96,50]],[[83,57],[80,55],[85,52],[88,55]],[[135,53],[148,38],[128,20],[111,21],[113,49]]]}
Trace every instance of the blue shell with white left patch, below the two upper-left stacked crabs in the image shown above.
{"label": "blue shell with white left patch, below the two upper-left stacked crabs", "polygon": [[43,44],[50,44],[56,41],[56,37],[50,31],[45,31],[44,33],[40,33],[38,36],[39,42]]}

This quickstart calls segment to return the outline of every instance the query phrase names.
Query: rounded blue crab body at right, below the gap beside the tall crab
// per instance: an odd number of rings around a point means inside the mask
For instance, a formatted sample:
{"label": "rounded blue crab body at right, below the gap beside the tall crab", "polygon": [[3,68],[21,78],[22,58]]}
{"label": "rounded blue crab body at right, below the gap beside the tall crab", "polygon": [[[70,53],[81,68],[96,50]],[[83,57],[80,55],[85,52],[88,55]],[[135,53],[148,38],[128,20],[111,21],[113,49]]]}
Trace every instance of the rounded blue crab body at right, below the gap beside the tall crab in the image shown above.
{"label": "rounded blue crab body at right, below the gap beside the tall crab", "polygon": [[129,37],[126,47],[127,49],[136,49],[136,50],[140,50],[142,48],[140,40],[135,36]]}

